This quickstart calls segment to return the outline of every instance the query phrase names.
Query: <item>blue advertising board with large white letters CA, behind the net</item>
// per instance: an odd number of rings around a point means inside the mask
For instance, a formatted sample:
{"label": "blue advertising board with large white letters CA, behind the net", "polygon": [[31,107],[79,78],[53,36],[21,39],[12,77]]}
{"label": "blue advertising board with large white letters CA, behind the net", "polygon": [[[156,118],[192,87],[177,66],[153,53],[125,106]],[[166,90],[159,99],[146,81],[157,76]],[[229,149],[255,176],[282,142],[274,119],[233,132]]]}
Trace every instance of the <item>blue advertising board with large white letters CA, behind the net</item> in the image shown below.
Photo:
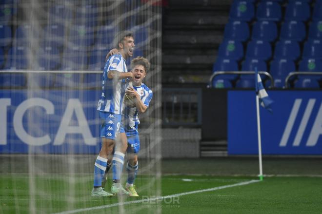
{"label": "blue advertising board with large white letters CA, behind the net", "polygon": [[100,151],[101,90],[0,90],[0,154]]}

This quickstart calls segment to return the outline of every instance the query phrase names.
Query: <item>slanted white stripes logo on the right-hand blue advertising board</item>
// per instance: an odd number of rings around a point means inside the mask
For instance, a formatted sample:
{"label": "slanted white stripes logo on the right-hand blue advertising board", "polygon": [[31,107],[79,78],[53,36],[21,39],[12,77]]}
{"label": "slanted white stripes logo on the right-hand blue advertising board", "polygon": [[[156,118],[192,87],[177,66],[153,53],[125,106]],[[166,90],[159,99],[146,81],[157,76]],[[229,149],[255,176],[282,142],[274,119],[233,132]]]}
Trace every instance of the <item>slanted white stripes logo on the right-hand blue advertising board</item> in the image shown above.
{"label": "slanted white stripes logo on the right-hand blue advertising board", "polygon": [[[307,102],[300,126],[297,130],[296,136],[293,141],[293,146],[300,146],[309,118],[312,116],[312,110],[315,105],[315,102],[316,102],[316,99],[309,99],[309,101]],[[280,147],[285,147],[287,145],[287,142],[293,130],[293,126],[295,124],[296,117],[298,117],[301,103],[302,103],[302,99],[295,99],[293,108],[291,110],[291,114],[288,117],[288,121],[284,129],[284,133],[280,142]],[[320,135],[322,135],[322,103],[320,104],[318,114],[315,117],[315,121],[313,123],[312,129],[307,138],[306,146],[310,146],[310,147],[315,146],[318,143]]]}

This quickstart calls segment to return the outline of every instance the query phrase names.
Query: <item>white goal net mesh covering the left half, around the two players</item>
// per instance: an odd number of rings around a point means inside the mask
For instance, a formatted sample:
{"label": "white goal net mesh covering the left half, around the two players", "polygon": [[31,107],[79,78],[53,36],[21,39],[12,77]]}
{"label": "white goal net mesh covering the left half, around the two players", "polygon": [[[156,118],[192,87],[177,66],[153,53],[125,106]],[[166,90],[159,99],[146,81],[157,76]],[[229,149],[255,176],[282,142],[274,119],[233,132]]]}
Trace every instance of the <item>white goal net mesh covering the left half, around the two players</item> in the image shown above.
{"label": "white goal net mesh covering the left half, around the two players", "polygon": [[[159,3],[1,1],[0,119],[4,125],[0,153],[4,164],[0,170],[7,179],[0,185],[9,196],[1,201],[5,206],[0,213],[161,212],[160,206],[126,205],[131,198],[90,196],[101,147],[96,110],[101,75],[106,54],[121,30],[134,33],[133,58],[143,56],[151,63],[143,82],[153,91],[153,99],[147,112],[139,115],[141,151],[135,184],[141,197],[161,195]],[[122,179],[126,178],[124,162]],[[110,185],[108,180],[107,188]],[[97,208],[102,205],[111,206]]]}

